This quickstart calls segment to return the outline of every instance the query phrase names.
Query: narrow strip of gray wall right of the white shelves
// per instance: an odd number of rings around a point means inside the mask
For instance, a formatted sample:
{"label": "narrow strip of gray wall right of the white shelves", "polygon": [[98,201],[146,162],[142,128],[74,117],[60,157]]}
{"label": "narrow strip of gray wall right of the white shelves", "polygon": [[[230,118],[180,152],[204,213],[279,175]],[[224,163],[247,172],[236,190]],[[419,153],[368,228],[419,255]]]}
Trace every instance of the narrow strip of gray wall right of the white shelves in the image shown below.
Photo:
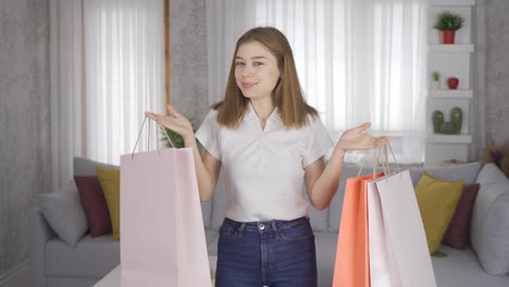
{"label": "narrow strip of gray wall right of the white shelves", "polygon": [[509,1],[486,0],[487,138],[509,144]]}

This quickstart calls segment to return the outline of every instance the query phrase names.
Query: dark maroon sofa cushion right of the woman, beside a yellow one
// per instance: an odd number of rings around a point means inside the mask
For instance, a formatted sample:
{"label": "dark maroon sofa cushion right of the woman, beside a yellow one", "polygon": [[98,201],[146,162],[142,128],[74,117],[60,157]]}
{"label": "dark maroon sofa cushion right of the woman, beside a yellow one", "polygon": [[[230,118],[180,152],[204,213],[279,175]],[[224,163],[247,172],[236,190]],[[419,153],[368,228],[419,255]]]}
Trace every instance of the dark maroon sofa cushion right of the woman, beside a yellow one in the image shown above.
{"label": "dark maroon sofa cushion right of the woman, beside a yellow one", "polygon": [[463,186],[460,200],[456,207],[455,215],[442,242],[456,249],[465,249],[470,244],[470,221],[472,219],[472,207],[479,191],[479,184]]}

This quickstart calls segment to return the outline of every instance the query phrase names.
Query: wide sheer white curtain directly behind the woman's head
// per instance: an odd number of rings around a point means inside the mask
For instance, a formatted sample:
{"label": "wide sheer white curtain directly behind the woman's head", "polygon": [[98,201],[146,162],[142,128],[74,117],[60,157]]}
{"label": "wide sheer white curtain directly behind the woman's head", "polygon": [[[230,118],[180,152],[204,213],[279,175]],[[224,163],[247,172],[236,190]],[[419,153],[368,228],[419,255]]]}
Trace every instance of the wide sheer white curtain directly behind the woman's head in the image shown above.
{"label": "wide sheer white curtain directly behind the woman's head", "polygon": [[394,136],[398,161],[422,162],[425,13],[424,0],[207,1],[209,101],[223,97],[237,38],[274,26],[287,36],[307,101],[333,138],[372,122],[370,133]]}

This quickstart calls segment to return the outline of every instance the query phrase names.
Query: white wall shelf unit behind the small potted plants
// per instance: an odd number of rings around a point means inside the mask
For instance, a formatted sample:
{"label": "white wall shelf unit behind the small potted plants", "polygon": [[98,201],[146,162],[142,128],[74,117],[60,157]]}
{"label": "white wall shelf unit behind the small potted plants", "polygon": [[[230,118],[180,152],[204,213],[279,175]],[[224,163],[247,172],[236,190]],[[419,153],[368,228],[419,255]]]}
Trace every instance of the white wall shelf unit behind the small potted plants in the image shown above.
{"label": "white wall shelf unit behind the small potted plants", "polygon": [[[472,57],[475,47],[472,43],[472,10],[475,0],[429,0],[427,7],[427,93],[426,93],[426,139],[424,166],[439,166],[447,160],[469,161],[472,144],[471,105],[473,92]],[[434,28],[436,16],[449,11],[462,16],[463,27],[456,32],[455,43],[443,45],[442,37]],[[438,89],[432,80],[434,72],[440,74]],[[447,88],[447,78],[459,79],[458,89]],[[451,110],[462,111],[461,132],[457,135],[435,134],[433,113],[440,111],[444,122],[451,121]]]}

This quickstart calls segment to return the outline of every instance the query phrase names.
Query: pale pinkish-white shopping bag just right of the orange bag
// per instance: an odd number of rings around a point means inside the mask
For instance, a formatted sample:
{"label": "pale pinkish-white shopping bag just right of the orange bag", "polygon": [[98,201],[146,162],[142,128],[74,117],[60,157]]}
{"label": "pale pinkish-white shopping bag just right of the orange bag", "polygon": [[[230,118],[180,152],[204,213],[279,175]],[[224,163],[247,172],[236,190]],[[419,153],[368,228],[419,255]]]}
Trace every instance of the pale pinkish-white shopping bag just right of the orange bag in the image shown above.
{"label": "pale pinkish-white shopping bag just right of the orange bag", "polygon": [[373,287],[436,287],[426,235],[408,171],[368,184]]}

